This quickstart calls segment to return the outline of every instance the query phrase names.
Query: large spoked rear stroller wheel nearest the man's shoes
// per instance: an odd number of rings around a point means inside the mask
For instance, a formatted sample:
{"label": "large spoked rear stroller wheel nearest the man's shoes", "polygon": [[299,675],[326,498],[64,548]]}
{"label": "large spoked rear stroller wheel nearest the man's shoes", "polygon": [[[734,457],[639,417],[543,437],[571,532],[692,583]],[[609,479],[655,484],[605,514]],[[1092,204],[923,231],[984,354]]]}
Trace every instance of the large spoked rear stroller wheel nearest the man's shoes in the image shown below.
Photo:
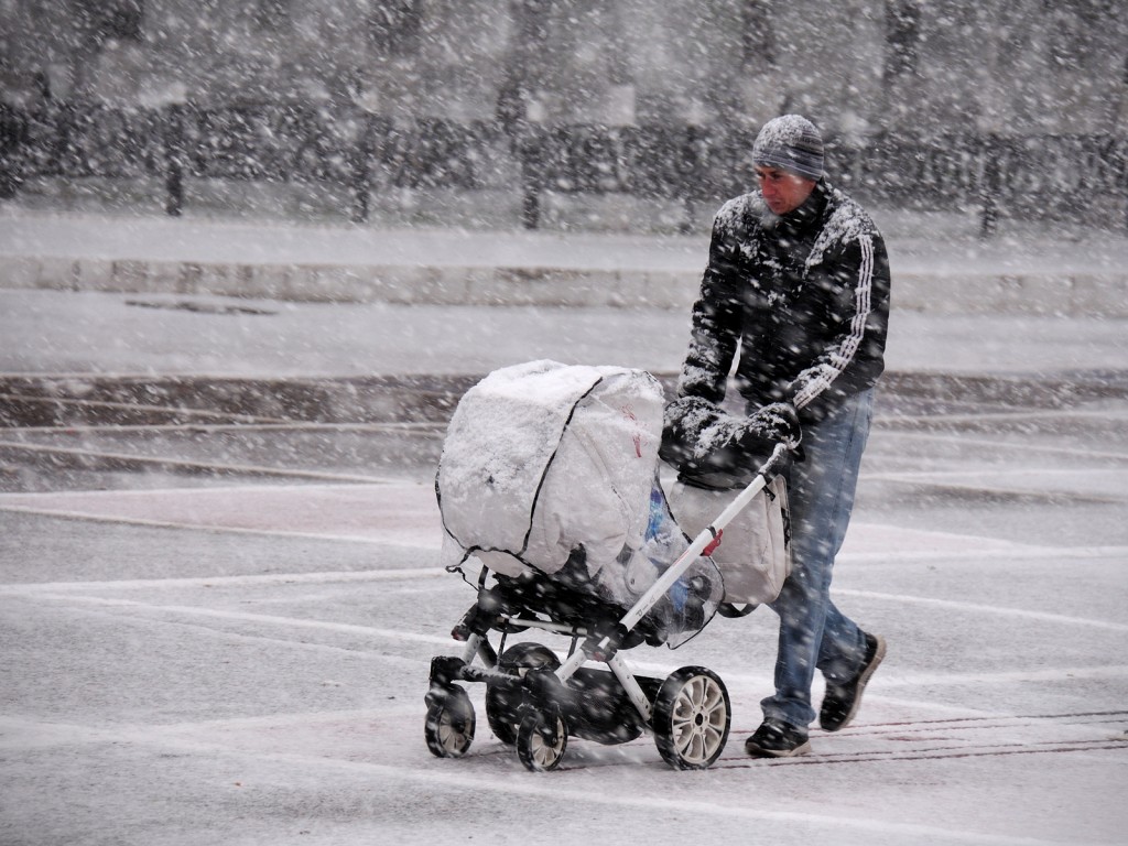
{"label": "large spoked rear stroller wheel nearest the man's shoes", "polygon": [[705,769],[724,750],[732,710],[721,678],[704,667],[682,667],[654,699],[654,742],[675,769]]}

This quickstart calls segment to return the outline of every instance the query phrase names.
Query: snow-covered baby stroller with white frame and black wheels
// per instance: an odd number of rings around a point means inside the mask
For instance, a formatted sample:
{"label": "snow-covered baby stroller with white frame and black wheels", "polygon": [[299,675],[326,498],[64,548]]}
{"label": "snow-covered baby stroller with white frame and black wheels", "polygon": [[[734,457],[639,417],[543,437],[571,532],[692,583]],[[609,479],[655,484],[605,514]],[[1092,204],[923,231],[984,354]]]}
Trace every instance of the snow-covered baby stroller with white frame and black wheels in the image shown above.
{"label": "snow-covered baby stroller with white frame and black wheels", "polygon": [[[696,666],[638,676],[622,652],[675,649],[717,611],[737,616],[732,600],[774,598],[790,569],[778,475],[787,447],[726,493],[690,540],[659,481],[662,409],[662,388],[644,371],[549,361],[494,371],[459,402],[435,491],[446,566],[477,599],[452,631],[461,654],[431,663],[424,735],[435,756],[466,754],[476,716],[459,682],[482,682],[491,730],[530,770],[556,768],[570,737],[613,744],[646,731],[676,769],[720,757],[731,719],[721,678]],[[681,487],[685,512],[700,521],[702,500]],[[738,557],[769,559],[776,587],[726,592],[728,573],[711,556],[765,488],[758,546]],[[703,494],[706,508],[720,502],[714,493]],[[566,658],[529,640],[509,644],[529,629],[570,637]]]}

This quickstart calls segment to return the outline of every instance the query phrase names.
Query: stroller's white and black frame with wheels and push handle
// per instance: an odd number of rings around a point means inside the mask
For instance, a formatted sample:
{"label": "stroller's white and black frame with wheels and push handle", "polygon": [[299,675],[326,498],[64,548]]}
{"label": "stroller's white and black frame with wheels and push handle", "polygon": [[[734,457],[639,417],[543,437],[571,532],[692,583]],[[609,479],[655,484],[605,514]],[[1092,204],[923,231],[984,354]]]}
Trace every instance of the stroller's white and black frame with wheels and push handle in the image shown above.
{"label": "stroller's white and black frame with wheels and push handle", "polygon": [[[724,527],[778,475],[787,452],[788,444],[777,444],[748,486],[625,613],[539,574],[493,574],[495,584],[486,587],[491,572],[483,566],[477,601],[451,632],[466,644],[461,655],[431,661],[424,697],[424,737],[431,752],[441,758],[466,754],[476,717],[458,682],[484,682],[490,728],[502,742],[517,747],[529,770],[555,769],[570,734],[610,744],[646,731],[675,769],[711,766],[724,750],[731,723],[729,693],[721,678],[697,666],[682,667],[666,679],[636,676],[619,653],[644,642],[662,642],[646,614],[699,556],[721,544]],[[538,643],[505,647],[509,635],[529,628],[572,638],[563,663]],[[501,633],[496,650],[490,629]],[[476,659],[483,666],[476,666]],[[588,662],[606,669],[585,667]]]}

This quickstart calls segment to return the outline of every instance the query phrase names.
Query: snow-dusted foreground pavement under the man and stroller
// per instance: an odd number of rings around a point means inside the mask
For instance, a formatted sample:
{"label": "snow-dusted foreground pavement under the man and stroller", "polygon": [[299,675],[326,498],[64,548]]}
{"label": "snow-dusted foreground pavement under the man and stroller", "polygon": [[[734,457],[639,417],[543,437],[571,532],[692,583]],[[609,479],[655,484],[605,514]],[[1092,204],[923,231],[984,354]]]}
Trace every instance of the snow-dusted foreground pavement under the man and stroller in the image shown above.
{"label": "snow-dusted foreground pavement under the man and stroller", "polygon": [[429,661],[459,654],[474,597],[437,565],[426,482],[0,495],[0,841],[1122,843],[1128,547],[865,517],[837,593],[890,654],[855,725],[814,731],[809,758],[744,757],[770,686],[760,609],[628,653],[721,675],[711,770],[644,737],[573,739],[531,774],[481,685],[469,754],[424,744]]}

